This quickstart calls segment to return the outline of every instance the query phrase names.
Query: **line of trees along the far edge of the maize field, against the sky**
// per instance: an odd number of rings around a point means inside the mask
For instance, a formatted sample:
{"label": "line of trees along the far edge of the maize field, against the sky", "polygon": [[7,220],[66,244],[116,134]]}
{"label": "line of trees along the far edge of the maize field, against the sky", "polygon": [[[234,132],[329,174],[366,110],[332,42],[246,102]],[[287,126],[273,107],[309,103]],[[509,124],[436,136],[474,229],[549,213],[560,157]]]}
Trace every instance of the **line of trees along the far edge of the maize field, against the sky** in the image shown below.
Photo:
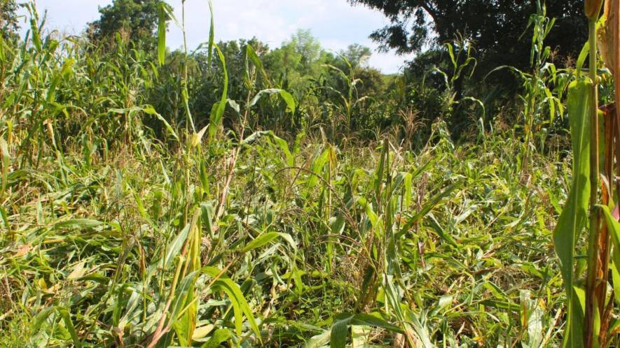
{"label": "line of trees along the far edge of the maize field, against the sky", "polygon": [[[17,31],[15,1],[0,1],[3,33]],[[136,56],[132,60],[135,63],[128,64],[143,64],[139,60],[144,57],[156,61],[162,1],[113,0],[99,8],[99,19],[85,30],[89,50],[106,55],[125,45],[135,50]],[[369,48],[353,44],[330,52],[308,30],[297,31],[277,48],[270,48],[259,38],[219,42],[226,59],[229,99],[245,99],[244,54],[246,46],[251,45],[267,75],[257,76],[261,86],[285,89],[298,103],[295,115],[290,115],[283,101],[261,99],[249,126],[271,129],[283,137],[322,131],[336,140],[375,138],[381,131],[394,129],[406,143],[415,146],[425,143],[432,124],[439,120],[448,124],[454,138],[467,139],[478,132],[480,122],[490,124],[498,117],[508,124],[516,122],[521,112],[516,94],[523,92],[522,81],[515,70],[488,73],[497,66],[525,72],[535,68],[530,61],[532,15],[538,11],[538,15],[557,19],[544,43],[552,52],[546,59],[556,64],[569,66],[581,50],[579,43],[585,41],[581,36],[587,33],[581,1],[577,0],[549,1],[543,14],[537,1],[350,2],[380,10],[390,19],[391,24],[371,34],[383,50],[413,53],[415,57],[401,73],[385,75],[368,65],[372,54]],[[170,122],[185,119],[186,110],[179,107],[179,76],[185,69],[189,111],[198,124],[208,122],[223,87],[223,66],[218,59],[209,61],[208,56],[206,48],[189,59],[179,50],[167,52],[166,64],[156,68],[158,82],[145,94]],[[225,126],[235,126],[237,119],[234,110],[226,110]],[[550,126],[559,130],[564,125]]]}

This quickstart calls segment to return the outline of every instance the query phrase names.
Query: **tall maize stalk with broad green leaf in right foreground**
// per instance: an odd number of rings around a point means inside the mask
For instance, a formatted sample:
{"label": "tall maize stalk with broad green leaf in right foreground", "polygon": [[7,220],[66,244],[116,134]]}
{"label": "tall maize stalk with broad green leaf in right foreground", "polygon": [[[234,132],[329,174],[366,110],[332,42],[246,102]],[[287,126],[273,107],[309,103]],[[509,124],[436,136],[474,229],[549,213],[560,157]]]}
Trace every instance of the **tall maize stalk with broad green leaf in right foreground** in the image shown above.
{"label": "tall maize stalk with broad green leaf in right foreground", "polygon": [[[566,289],[563,347],[608,347],[619,324],[612,312],[614,302],[618,302],[616,296],[620,296],[620,224],[616,206],[620,198],[620,113],[615,105],[598,106],[598,46],[614,77],[617,101],[620,1],[606,0],[605,13],[599,20],[601,6],[600,0],[585,2],[589,39],[568,90],[572,187],[553,233]],[[582,75],[586,55],[588,75]],[[581,250],[579,237],[586,226],[584,282],[580,279],[584,267],[579,265],[577,253]],[[608,291],[610,283],[612,291]]]}

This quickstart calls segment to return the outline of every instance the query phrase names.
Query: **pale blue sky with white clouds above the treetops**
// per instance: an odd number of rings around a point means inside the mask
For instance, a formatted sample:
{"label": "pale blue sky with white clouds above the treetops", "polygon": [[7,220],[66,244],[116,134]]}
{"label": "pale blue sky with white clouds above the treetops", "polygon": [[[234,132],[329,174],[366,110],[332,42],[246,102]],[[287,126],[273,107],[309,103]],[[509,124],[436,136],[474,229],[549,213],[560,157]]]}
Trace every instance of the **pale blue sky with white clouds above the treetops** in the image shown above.
{"label": "pale blue sky with white clouds above the treetops", "polygon": [[[86,23],[97,20],[99,6],[111,0],[36,0],[39,13],[48,10],[47,27],[66,34],[80,34]],[[181,0],[168,0],[175,16],[181,20]],[[186,31],[188,46],[195,48],[207,41],[209,7],[206,0],[186,0]],[[368,35],[384,27],[388,20],[378,11],[364,6],[351,6],[347,0],[213,0],[216,41],[252,38],[277,48],[297,29],[310,29],[327,50],[342,50],[352,43],[373,50],[370,66],[383,73],[397,73],[411,57],[394,52],[380,53]],[[22,24],[22,27],[26,27]],[[167,45],[180,48],[181,30],[170,25]]]}

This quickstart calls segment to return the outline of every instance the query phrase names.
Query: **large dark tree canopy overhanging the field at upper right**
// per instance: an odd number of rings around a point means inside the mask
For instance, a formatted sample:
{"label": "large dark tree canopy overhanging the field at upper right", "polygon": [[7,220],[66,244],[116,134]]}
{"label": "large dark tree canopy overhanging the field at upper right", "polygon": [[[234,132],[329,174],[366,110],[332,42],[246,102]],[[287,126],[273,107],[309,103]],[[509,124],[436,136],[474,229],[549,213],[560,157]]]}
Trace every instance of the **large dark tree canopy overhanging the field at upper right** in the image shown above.
{"label": "large dark tree canopy overhanging the field at upper right", "polygon": [[[456,36],[474,41],[482,73],[509,64],[528,66],[531,35],[522,35],[536,1],[524,0],[349,0],[380,10],[391,24],[371,34],[382,50],[419,53]],[[582,0],[548,1],[547,16],[557,19],[547,45],[560,56],[575,57],[587,40]],[[531,29],[531,28],[530,28]]]}

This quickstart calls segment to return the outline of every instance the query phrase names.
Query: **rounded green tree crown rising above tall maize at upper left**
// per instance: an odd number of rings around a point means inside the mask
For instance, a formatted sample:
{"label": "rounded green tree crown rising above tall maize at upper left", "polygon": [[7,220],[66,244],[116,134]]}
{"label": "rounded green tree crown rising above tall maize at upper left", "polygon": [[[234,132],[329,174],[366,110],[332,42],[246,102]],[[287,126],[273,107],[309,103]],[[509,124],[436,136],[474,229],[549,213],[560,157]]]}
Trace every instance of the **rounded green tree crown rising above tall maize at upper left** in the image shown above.
{"label": "rounded green tree crown rising above tall maize at upper left", "polygon": [[94,41],[123,31],[130,41],[154,49],[158,24],[158,6],[163,0],[113,0],[111,5],[99,8],[101,17],[89,23],[88,33]]}

